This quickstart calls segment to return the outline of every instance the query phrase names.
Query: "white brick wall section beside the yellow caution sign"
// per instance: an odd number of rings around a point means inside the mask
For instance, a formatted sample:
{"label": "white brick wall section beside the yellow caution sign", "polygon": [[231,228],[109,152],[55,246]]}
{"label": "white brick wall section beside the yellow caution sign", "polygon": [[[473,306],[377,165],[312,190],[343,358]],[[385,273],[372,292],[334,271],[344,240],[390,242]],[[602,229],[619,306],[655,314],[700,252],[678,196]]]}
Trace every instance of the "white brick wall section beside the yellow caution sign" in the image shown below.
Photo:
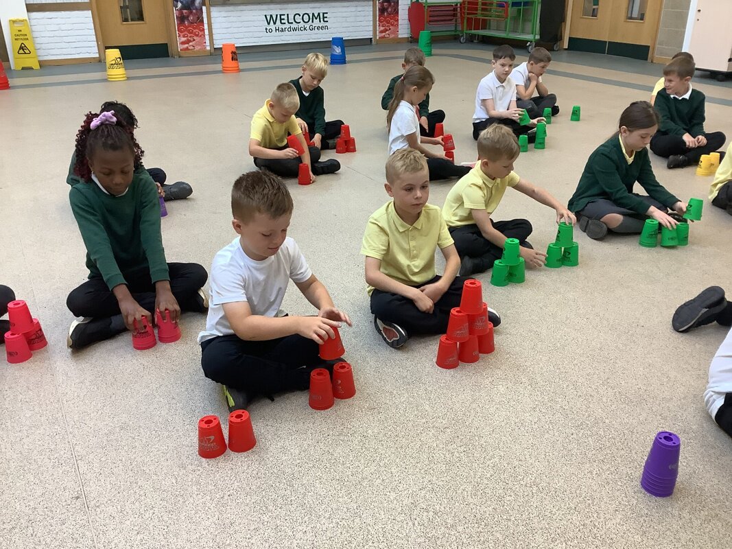
{"label": "white brick wall section beside the yellow caution sign", "polygon": [[40,61],[99,56],[91,11],[31,12],[28,17]]}

